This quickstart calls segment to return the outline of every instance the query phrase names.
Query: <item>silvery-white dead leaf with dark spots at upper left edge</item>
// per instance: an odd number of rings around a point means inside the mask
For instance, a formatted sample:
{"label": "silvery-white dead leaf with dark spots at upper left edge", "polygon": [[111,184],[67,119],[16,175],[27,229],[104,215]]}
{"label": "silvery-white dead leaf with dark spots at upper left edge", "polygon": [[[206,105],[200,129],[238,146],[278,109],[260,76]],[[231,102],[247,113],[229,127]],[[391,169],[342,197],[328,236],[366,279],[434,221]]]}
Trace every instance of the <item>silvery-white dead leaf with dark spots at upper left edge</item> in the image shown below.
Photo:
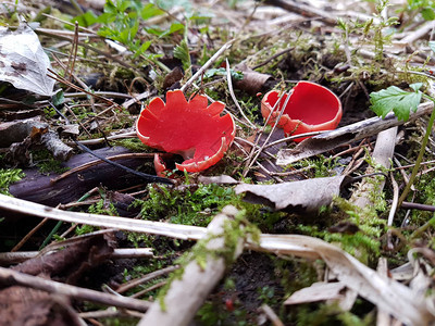
{"label": "silvery-white dead leaf with dark spots at upper left edge", "polygon": [[14,32],[0,26],[0,80],[41,96],[53,95],[54,79],[47,76],[50,60],[29,26]]}

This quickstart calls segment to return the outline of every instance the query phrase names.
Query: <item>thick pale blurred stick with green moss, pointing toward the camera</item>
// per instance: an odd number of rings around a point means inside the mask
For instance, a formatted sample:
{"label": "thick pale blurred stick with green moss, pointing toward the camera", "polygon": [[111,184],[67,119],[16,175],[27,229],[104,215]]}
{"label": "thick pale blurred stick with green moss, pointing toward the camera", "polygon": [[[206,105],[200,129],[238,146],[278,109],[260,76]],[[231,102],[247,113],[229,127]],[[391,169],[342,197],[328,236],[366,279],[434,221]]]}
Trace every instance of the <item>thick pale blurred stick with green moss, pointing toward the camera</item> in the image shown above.
{"label": "thick pale blurred stick with green moss, pointing toward the camera", "polygon": [[[208,236],[212,238],[207,248],[211,251],[225,249],[223,225],[228,216],[237,214],[234,206],[226,206],[223,214],[216,215],[207,228]],[[239,239],[234,258],[243,251],[244,239]],[[194,318],[198,309],[202,305],[207,296],[223,277],[226,268],[224,258],[213,253],[207,255],[207,265],[201,268],[196,261],[190,262],[183,271],[183,277],[171,283],[171,287],[164,296],[164,306],[157,300],[148,310],[138,326],[184,326]]]}

